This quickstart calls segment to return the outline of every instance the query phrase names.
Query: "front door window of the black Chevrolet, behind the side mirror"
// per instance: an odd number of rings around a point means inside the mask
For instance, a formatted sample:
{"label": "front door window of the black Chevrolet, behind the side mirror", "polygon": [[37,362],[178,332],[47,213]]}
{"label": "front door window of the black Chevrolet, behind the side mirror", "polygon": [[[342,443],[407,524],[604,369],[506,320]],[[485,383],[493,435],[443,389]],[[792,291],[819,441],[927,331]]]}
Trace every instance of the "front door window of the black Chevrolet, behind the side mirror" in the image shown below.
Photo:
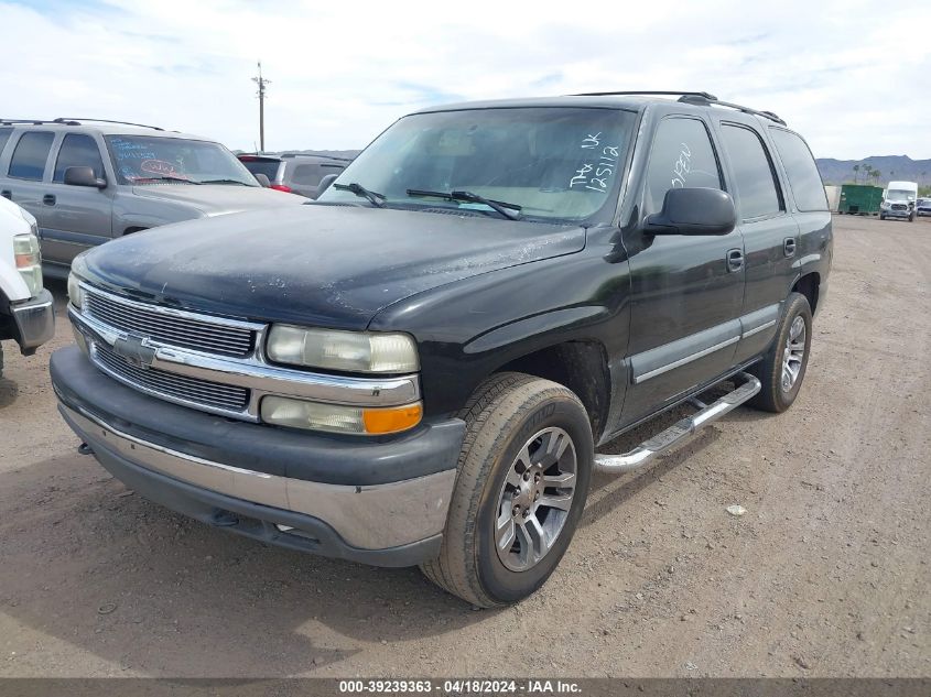
{"label": "front door window of the black Chevrolet, behind the side mirror", "polygon": [[646,213],[659,213],[671,188],[721,188],[721,171],[705,124],[669,118],[657,127],[647,170]]}

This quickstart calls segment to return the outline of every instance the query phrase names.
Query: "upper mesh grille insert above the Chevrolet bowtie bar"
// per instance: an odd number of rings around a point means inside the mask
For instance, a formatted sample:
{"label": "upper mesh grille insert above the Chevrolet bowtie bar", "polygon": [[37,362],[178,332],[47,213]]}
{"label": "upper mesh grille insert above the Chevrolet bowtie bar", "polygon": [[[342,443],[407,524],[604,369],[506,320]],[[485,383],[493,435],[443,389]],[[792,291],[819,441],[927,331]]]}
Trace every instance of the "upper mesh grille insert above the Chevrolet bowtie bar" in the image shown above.
{"label": "upper mesh grille insert above the Chevrolet bowtie bar", "polygon": [[137,303],[85,286],[85,312],[116,331],[138,334],[159,344],[221,356],[249,356],[256,331],[229,320],[212,322],[205,315],[165,312],[156,305]]}

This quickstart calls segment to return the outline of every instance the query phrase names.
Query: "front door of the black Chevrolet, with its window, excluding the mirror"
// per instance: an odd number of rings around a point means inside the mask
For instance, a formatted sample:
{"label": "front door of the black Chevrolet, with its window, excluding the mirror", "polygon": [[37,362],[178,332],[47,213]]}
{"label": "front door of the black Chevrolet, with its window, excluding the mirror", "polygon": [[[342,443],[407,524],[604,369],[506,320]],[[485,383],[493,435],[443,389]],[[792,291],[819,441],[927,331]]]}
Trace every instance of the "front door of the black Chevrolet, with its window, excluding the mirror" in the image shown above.
{"label": "front door of the black Chevrolet, with its window, excluding the mirror", "polygon": [[[640,217],[662,208],[673,187],[724,188],[708,123],[671,115],[657,126]],[[632,384],[624,406],[630,424],[667,406],[733,364],[744,302],[744,243],[723,236],[650,236],[625,240],[630,255]]]}

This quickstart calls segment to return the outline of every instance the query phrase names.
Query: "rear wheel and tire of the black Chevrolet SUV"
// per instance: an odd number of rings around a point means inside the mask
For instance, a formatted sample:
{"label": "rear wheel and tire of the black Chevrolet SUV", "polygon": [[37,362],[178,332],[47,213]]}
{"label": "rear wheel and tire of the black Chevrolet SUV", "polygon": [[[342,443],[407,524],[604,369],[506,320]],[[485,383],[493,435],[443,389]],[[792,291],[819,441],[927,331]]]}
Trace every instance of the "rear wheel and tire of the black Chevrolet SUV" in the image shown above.
{"label": "rear wheel and tire of the black Chevrolet SUV", "polygon": [[[798,340],[800,326],[804,328],[804,336],[801,337],[801,340]],[[790,294],[772,346],[762,361],[756,363],[748,371],[759,378],[762,385],[757,395],[748,402],[750,406],[777,414],[792,406],[799,395],[808,368],[809,355],[811,353],[811,306],[808,298],[800,293]],[[790,349],[790,338],[794,339],[791,341],[791,346],[798,348],[793,350],[789,361],[790,369],[794,367],[794,370],[789,370],[788,373],[794,377],[787,388],[783,383],[783,379],[786,379],[783,361],[787,358],[787,351]]]}

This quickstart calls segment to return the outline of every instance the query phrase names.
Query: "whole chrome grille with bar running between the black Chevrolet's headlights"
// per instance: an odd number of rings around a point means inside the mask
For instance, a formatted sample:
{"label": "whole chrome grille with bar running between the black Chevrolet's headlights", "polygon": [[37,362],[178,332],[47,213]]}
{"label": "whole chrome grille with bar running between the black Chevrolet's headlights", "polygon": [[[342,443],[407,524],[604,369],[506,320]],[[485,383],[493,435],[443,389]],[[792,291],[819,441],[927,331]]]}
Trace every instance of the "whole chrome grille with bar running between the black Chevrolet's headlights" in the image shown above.
{"label": "whole chrome grille with bar running between the black Chevrolet's headlights", "polygon": [[253,423],[266,395],[374,407],[421,399],[418,374],[332,375],[269,363],[264,323],[141,303],[84,281],[68,317],[84,352],[115,380],[158,399]]}

